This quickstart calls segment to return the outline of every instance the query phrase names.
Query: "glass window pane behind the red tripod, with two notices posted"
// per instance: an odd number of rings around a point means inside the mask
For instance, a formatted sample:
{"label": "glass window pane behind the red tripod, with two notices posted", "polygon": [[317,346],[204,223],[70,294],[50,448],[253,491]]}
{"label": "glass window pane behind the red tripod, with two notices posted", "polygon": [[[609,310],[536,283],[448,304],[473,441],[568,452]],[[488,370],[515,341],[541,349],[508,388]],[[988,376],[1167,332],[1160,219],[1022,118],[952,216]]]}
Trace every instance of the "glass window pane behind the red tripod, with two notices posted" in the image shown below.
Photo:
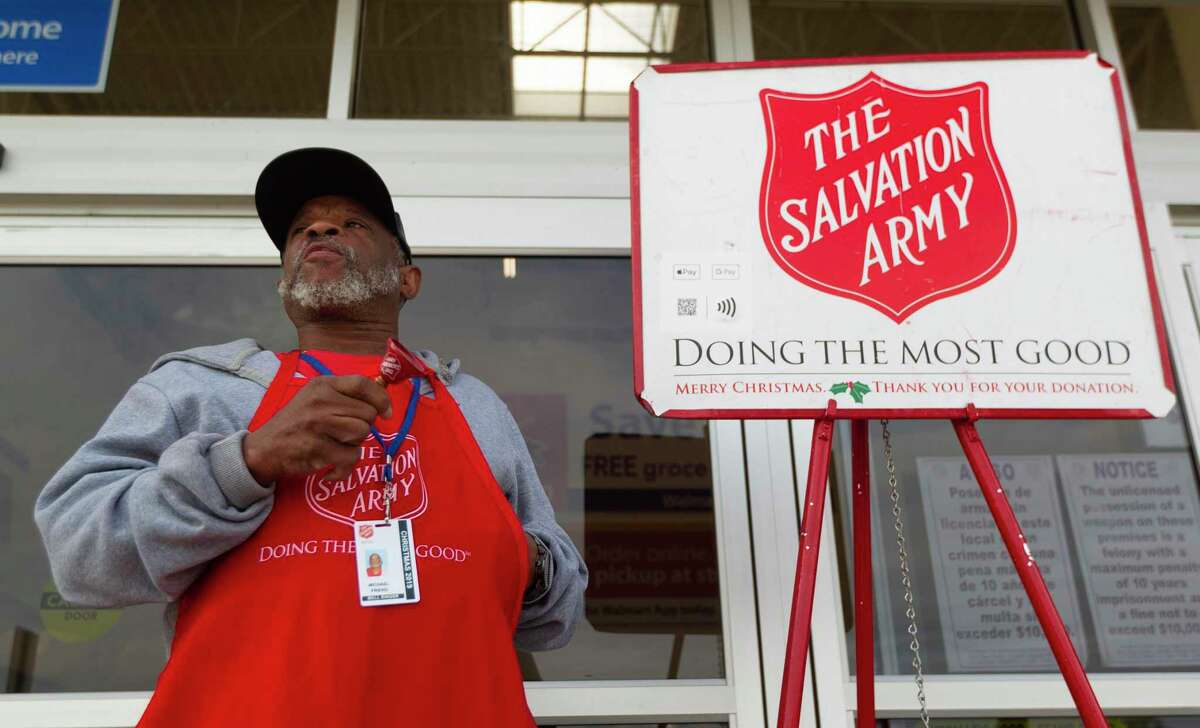
{"label": "glass window pane behind the red tripod, with two notices posted", "polygon": [[[1057,672],[950,425],[890,429],[925,670]],[[991,421],[979,432],[1084,666],[1200,668],[1200,498],[1178,408],[1163,420]],[[839,431],[835,453],[847,590],[848,437]],[[872,427],[876,672],[908,674],[881,437]]]}

